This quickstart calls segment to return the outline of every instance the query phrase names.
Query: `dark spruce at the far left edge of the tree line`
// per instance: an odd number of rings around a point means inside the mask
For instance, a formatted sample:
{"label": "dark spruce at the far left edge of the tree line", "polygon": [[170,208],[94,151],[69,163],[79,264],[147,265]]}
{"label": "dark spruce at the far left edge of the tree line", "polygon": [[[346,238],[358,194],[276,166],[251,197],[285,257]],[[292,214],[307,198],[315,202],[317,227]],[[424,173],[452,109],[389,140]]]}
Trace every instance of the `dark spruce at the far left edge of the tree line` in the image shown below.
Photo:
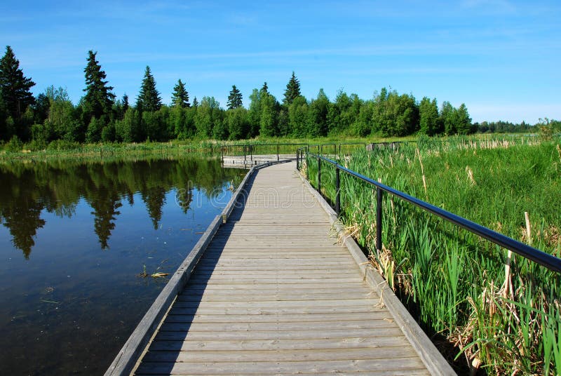
{"label": "dark spruce at the far left edge of the tree line", "polygon": [[14,121],[19,122],[27,107],[35,102],[29,91],[34,85],[31,79],[23,75],[12,48],[6,46],[6,54],[0,59],[0,102],[3,102],[6,114]]}

